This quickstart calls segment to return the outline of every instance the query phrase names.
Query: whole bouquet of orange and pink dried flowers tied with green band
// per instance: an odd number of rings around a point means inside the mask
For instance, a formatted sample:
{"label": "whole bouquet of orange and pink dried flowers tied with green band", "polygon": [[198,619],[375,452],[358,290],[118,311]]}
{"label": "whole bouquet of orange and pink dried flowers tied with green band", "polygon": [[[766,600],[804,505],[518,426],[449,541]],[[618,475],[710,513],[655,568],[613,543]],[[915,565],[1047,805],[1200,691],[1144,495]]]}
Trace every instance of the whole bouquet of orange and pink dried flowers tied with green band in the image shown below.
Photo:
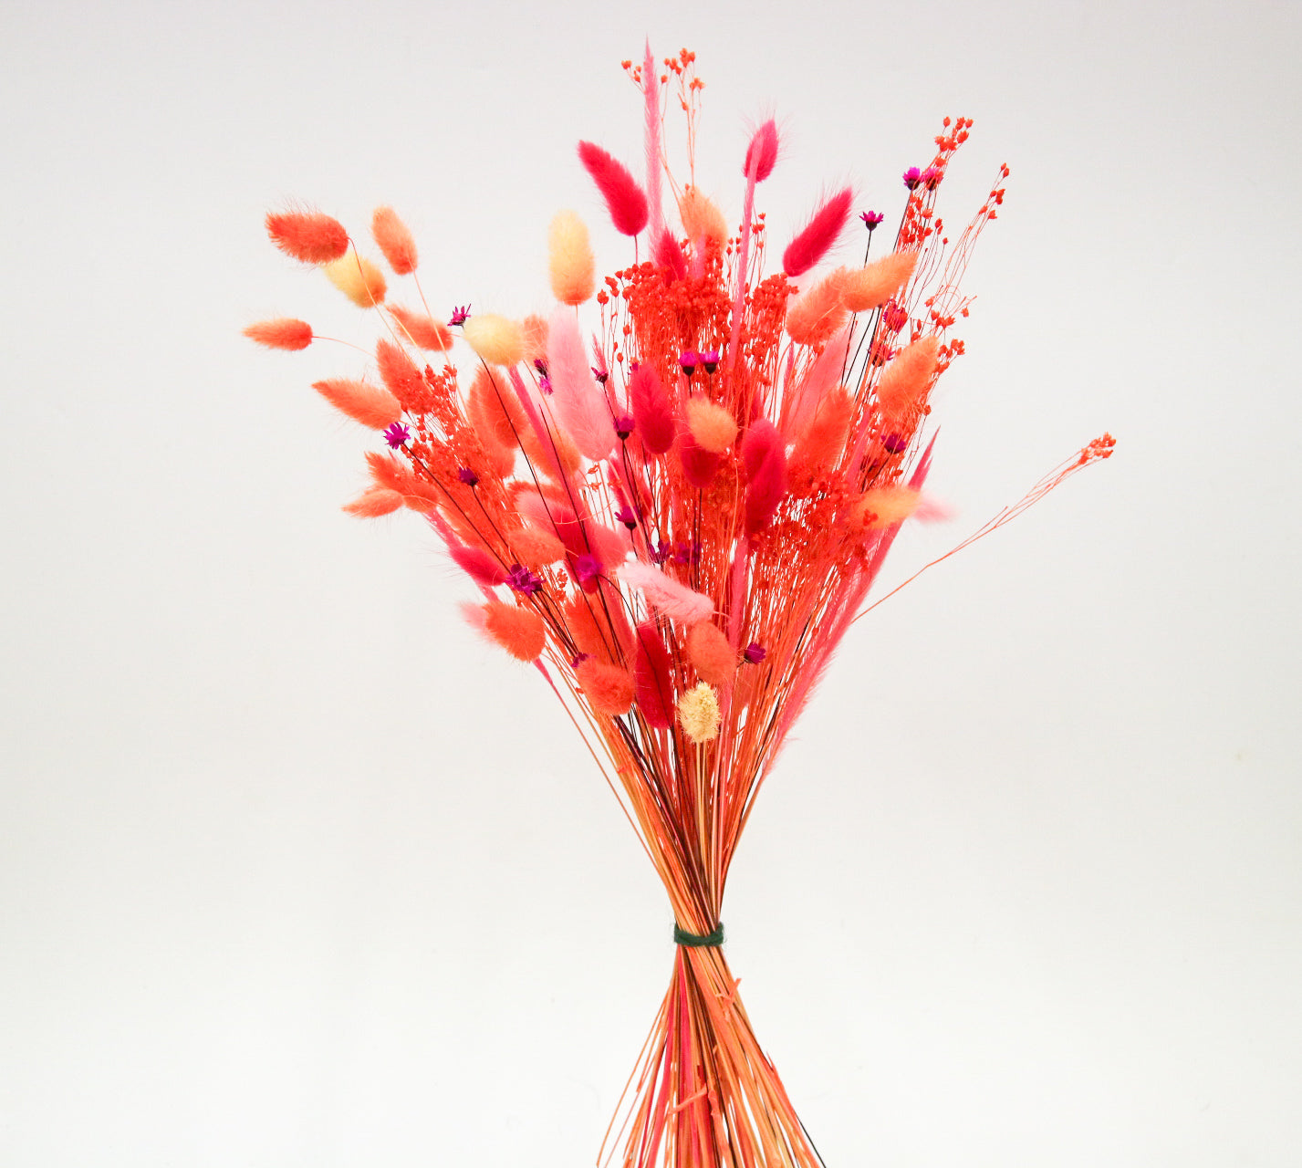
{"label": "whole bouquet of orange and pink dried flowers tied with green band", "polygon": [[[854,221],[846,189],[766,275],[755,193],[777,163],[776,124],[750,139],[730,232],[694,181],[694,63],[686,49],[625,63],[644,105],[644,181],[594,143],[578,156],[634,262],[599,284],[585,224],[560,212],[546,318],[465,306],[435,319],[415,242],[387,207],[371,233],[421,309],[389,299],[380,267],[329,216],[273,212],[267,227],[383,324],[378,379],[315,385],[388,447],[367,453],[371,486],[345,509],[428,520],[483,594],[465,616],[536,665],[668,892],[673,975],[602,1158],[812,1168],[724,960],[724,888],[764,777],[896,533],[940,513],[922,492],[930,400],[962,353],[958,283],[1008,169],[950,242],[936,193],[971,122],[945,118],[930,164],[904,174],[893,247],[874,258],[884,216],[863,212],[863,262],[806,279]],[[669,108],[686,116],[682,184],[665,161]],[[247,333],[283,349],[315,339],[288,318]],[[469,384],[453,365],[462,346]],[[1107,435],[1090,443],[978,535],[1111,449]]]}

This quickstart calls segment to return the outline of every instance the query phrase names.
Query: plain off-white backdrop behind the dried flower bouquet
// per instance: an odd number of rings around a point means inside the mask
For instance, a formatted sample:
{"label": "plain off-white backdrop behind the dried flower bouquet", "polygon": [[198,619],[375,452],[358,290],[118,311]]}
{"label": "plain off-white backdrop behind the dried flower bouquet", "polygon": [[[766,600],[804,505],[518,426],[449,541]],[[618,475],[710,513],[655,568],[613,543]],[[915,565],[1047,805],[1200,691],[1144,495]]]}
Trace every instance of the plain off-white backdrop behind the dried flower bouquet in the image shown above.
{"label": "plain off-white backdrop behind the dried flower bouquet", "polygon": [[[309,388],[375,327],[273,251],[393,204],[439,311],[547,310],[620,61],[706,79],[740,216],[888,221],[944,115],[1008,161],[888,586],[738,853],[729,961],[829,1168],[1302,1163],[1299,9],[4,5],[0,1164],[591,1164],[671,914],[540,680],[421,521],[340,512]],[[680,124],[671,117],[676,148]],[[681,159],[681,154],[678,155]],[[841,253],[853,262],[862,242]]]}

